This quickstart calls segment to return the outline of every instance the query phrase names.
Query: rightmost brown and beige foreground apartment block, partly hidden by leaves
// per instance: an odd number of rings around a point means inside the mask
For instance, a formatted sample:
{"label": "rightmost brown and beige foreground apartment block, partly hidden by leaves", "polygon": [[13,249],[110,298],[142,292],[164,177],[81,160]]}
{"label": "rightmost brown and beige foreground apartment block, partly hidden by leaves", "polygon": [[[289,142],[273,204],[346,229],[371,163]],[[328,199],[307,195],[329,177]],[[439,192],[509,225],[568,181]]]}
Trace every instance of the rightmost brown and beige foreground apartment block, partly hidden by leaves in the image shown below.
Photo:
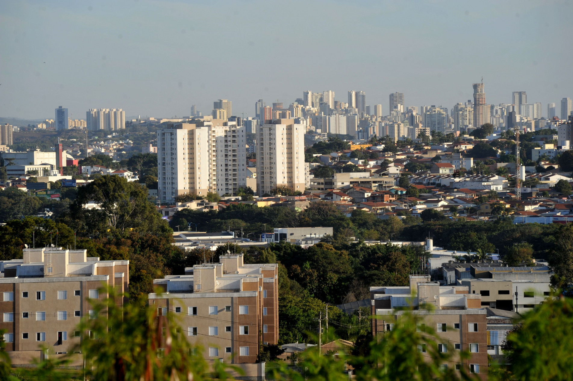
{"label": "rightmost brown and beige foreground apartment block, partly hidden by leaves", "polygon": [[[480,294],[469,293],[468,286],[441,286],[430,276],[410,276],[410,286],[371,287],[370,301],[373,335],[385,335],[405,313],[412,313],[421,318],[420,328],[435,331],[439,351],[453,353],[443,367],[487,379],[487,320]],[[418,350],[426,352],[423,345]],[[457,354],[461,350],[470,352],[463,362]]]}

